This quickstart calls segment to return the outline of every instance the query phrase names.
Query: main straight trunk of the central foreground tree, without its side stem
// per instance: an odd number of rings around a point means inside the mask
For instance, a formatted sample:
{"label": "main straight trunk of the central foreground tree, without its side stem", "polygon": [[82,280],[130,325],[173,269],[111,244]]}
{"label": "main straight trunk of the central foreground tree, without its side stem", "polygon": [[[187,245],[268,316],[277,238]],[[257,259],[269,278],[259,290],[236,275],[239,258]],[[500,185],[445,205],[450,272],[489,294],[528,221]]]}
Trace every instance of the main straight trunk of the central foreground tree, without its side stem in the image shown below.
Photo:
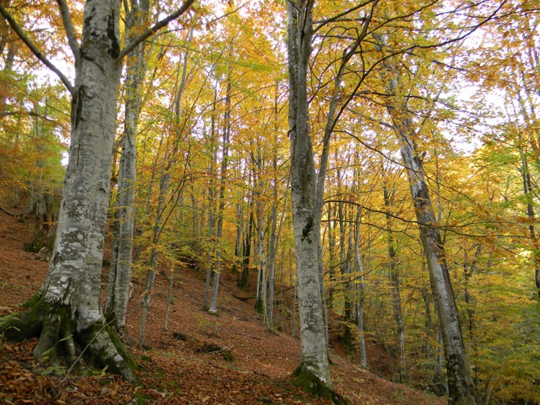
{"label": "main straight trunk of the central foreground tree, without its side stem", "polygon": [[311,54],[313,3],[287,2],[289,55],[289,135],[291,138],[291,202],[300,308],[300,369],[331,387],[318,266],[320,216],[314,213],[316,179],[307,127],[307,72]]}

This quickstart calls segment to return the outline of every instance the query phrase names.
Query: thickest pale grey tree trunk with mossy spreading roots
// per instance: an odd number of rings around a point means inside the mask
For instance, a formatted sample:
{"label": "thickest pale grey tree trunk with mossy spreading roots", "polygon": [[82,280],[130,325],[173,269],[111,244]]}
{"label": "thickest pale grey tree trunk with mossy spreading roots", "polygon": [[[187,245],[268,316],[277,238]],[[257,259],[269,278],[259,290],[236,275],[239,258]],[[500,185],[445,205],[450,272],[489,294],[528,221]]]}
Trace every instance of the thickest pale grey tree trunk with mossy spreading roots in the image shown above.
{"label": "thickest pale grey tree trunk with mossy spreading roots", "polygon": [[[76,57],[71,144],[52,261],[39,292],[26,302],[30,308],[5,326],[17,326],[18,337],[39,335],[37,359],[55,361],[61,347],[72,364],[79,346],[90,364],[133,381],[133,362],[100,308],[121,67],[119,14],[119,0],[87,1],[81,46],[70,43]],[[17,337],[14,328],[5,332]]]}

